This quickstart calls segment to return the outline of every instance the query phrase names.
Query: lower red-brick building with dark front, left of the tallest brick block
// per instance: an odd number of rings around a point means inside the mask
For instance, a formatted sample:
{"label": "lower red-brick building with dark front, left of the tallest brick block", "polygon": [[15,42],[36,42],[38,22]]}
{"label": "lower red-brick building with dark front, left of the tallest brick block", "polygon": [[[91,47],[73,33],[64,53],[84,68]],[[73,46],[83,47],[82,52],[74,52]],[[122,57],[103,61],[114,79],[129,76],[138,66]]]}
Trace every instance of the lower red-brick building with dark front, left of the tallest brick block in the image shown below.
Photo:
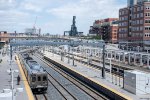
{"label": "lower red-brick building with dark front, left of the tallest brick block", "polygon": [[95,20],[89,33],[100,35],[105,42],[116,43],[118,40],[118,18]]}

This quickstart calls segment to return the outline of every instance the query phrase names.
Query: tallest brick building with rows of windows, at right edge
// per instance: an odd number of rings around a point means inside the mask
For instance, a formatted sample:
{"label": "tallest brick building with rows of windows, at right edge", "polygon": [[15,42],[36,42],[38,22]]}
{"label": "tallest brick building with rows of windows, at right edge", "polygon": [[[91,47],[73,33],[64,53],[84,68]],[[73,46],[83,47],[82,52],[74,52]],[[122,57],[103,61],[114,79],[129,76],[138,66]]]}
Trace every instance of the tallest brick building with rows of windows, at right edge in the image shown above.
{"label": "tallest brick building with rows of windows, at right edge", "polygon": [[[134,0],[128,0],[133,4]],[[119,43],[121,48],[150,50],[150,0],[119,10]]]}

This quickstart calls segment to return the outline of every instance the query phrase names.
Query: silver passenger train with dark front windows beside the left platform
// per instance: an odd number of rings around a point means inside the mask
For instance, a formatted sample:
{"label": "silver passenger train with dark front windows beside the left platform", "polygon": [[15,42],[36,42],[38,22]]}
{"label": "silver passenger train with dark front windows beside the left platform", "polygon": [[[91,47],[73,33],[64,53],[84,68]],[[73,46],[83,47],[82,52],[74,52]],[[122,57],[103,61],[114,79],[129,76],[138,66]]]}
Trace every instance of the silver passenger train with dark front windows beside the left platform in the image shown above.
{"label": "silver passenger train with dark front windows beside the left platform", "polygon": [[48,74],[44,68],[27,53],[19,54],[19,60],[33,93],[46,93]]}

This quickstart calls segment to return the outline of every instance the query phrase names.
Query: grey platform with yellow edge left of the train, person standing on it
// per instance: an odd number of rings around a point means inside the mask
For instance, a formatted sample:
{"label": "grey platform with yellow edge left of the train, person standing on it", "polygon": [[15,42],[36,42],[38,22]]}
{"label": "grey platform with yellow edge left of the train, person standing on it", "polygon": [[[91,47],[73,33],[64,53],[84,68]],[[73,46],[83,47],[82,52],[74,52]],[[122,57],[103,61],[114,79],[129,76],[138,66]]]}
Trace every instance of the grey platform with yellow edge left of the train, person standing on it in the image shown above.
{"label": "grey platform with yellow edge left of the train, person standing on it", "polygon": [[[27,83],[24,72],[18,59],[10,61],[9,53],[2,54],[3,50],[0,50],[0,100],[12,100],[12,93],[14,93],[13,100],[34,100],[32,91]],[[12,92],[12,78],[8,71],[14,71],[13,73],[13,87]],[[18,72],[17,72],[18,71]],[[17,76],[20,76],[20,84],[17,84]]]}

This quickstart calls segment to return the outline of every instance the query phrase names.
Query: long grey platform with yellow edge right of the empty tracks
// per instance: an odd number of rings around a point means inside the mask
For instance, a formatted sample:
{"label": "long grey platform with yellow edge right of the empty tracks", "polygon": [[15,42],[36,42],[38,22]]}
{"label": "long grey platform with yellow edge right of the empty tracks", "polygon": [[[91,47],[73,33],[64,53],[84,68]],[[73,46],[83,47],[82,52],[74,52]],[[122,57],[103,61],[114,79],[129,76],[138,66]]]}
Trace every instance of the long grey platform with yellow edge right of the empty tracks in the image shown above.
{"label": "long grey platform with yellow edge right of the empty tracks", "polygon": [[[51,60],[60,63],[61,65],[65,66],[66,68],[70,69],[72,72],[76,72],[84,78],[87,78],[91,80],[93,83],[98,84],[99,86],[102,86],[108,90],[110,90],[113,93],[118,94],[119,96],[123,97],[127,100],[147,100],[147,98],[150,97],[150,94],[148,95],[135,95],[132,94],[126,90],[123,89],[123,80],[120,78],[113,77],[110,75],[110,73],[106,73],[106,79],[103,79],[101,77],[101,70],[97,70],[95,68],[92,68],[90,66],[84,65],[82,63],[76,62],[75,66],[73,66],[73,61],[70,59],[70,63],[68,63],[68,58],[64,57],[63,61],[61,61],[60,55],[52,54],[51,52],[45,51],[44,56],[47,58],[50,58]],[[118,81],[119,80],[119,81]]]}

